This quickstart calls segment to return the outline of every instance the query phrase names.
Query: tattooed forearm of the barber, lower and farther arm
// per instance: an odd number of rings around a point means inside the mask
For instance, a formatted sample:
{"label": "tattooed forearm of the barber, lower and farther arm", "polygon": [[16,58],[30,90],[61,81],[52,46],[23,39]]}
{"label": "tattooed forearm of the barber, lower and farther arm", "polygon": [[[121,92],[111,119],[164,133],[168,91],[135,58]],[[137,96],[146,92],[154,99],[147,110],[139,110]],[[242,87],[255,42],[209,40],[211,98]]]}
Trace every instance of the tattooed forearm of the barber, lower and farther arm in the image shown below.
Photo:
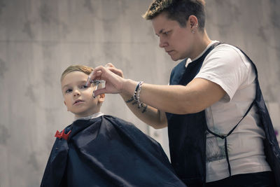
{"label": "tattooed forearm of the barber, lower and farther arm", "polygon": [[138,103],[134,101],[132,95],[121,93],[120,96],[123,97],[130,111],[144,123],[151,125],[155,129],[167,127],[165,113],[161,113],[158,109],[146,104],[139,108]]}

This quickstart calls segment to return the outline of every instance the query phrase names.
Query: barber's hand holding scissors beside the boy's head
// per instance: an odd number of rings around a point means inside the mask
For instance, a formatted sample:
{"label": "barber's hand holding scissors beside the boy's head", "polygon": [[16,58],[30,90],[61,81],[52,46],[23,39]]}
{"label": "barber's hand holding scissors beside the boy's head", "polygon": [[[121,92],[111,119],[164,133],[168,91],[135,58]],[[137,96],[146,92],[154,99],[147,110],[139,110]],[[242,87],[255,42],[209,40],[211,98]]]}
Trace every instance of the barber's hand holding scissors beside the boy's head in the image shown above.
{"label": "barber's hand holding scissors beside the boy's head", "polygon": [[123,91],[123,84],[125,82],[123,71],[116,69],[113,64],[107,64],[107,67],[99,66],[94,68],[87,79],[87,85],[90,85],[90,81],[94,80],[106,81],[105,88],[94,91],[94,96],[103,93],[120,93]]}

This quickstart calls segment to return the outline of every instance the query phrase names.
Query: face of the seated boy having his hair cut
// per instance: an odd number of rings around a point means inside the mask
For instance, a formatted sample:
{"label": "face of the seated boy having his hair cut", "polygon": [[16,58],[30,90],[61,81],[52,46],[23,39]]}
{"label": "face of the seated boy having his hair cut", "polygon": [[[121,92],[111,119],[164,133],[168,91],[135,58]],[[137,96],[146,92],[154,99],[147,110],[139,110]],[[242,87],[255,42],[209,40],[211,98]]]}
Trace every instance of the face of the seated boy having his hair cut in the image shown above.
{"label": "face of the seated boy having his hair cut", "polygon": [[62,79],[62,94],[67,111],[74,113],[76,118],[90,116],[100,111],[104,95],[93,98],[92,92],[96,85],[85,86],[88,75],[81,71],[72,71]]}

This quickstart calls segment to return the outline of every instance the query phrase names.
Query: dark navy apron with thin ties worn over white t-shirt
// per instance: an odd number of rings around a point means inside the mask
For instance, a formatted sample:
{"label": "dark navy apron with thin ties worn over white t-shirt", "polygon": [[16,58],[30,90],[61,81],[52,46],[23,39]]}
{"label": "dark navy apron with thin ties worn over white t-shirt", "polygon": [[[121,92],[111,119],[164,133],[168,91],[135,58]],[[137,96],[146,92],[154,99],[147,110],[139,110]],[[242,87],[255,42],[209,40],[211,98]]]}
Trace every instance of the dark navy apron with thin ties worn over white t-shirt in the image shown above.
{"label": "dark navy apron with thin ties worn over white t-shirt", "polygon": [[[170,85],[187,85],[200,71],[205,57],[216,46],[221,43],[214,43],[200,58],[188,64],[186,68],[186,60],[180,62],[172,70],[170,76]],[[241,51],[244,53],[243,51]],[[265,102],[262,98],[260,91],[260,85],[258,83],[258,72],[255,64],[244,53],[248,60],[255,69],[255,81],[256,81],[256,95],[251,106],[248,108],[250,111],[253,105],[256,106],[260,122],[265,130],[266,139],[264,141],[265,155],[267,162],[272,168],[277,186],[280,186],[280,149],[276,140],[276,135],[272,126],[272,122],[265,106]],[[246,114],[244,114],[244,117]],[[206,134],[209,131],[211,134],[218,136],[214,132],[211,132],[207,127],[205,118],[205,111],[199,113],[190,113],[186,115],[179,115],[174,113],[166,113],[168,121],[168,136],[169,136],[169,149],[172,166],[174,167],[176,174],[179,178],[188,186],[204,186],[206,180]],[[243,118],[244,118],[243,117]],[[242,119],[243,119],[242,118]],[[241,119],[241,120],[242,120]],[[239,121],[239,123],[241,122]],[[237,123],[237,125],[239,124]],[[237,125],[235,127],[237,127]],[[230,135],[235,127],[228,133]],[[220,137],[220,136],[218,136]],[[227,150],[226,137],[225,139],[225,151]],[[226,151],[227,154],[227,151]],[[228,169],[230,172],[230,162],[228,160]],[[231,175],[231,173],[230,173]]]}

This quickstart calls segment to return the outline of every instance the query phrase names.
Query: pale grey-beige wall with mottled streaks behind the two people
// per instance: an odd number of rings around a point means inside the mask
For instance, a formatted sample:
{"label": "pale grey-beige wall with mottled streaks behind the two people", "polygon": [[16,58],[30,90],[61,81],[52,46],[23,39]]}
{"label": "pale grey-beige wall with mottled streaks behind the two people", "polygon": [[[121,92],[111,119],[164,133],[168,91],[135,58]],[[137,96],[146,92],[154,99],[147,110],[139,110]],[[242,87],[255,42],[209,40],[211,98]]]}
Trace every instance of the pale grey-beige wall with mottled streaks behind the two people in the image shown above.
{"label": "pale grey-beige wall with mottled streaks behind the two people", "polygon": [[[150,3],[0,0],[1,187],[39,186],[56,130],[73,120],[59,88],[70,64],[113,62],[127,78],[168,83],[176,62],[158,48],[151,23],[141,18]],[[278,130],[279,8],[277,0],[207,0],[209,36],[239,46],[255,62]],[[118,95],[106,95],[102,111],[149,132]]]}

